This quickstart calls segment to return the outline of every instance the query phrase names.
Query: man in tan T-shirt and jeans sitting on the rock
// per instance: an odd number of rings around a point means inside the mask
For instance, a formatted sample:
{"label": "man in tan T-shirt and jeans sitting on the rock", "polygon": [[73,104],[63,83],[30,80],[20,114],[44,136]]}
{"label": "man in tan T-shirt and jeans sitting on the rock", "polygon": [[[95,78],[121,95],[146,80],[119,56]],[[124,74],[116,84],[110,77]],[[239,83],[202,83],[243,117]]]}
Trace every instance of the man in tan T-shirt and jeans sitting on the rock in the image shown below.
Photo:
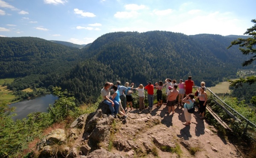
{"label": "man in tan T-shirt and jeans sitting on the rock", "polygon": [[117,118],[117,113],[119,109],[119,103],[116,100],[112,100],[110,97],[110,90],[109,88],[113,85],[113,83],[106,82],[104,87],[101,90],[102,101],[109,106],[111,115]]}

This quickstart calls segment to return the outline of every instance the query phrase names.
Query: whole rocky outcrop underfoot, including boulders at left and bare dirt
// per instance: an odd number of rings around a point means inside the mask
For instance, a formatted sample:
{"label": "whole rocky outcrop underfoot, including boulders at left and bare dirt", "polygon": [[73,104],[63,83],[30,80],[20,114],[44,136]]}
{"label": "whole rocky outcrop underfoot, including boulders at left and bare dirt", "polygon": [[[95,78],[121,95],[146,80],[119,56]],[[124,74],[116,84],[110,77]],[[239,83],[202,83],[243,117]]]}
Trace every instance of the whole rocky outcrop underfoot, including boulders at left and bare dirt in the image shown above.
{"label": "whole rocky outcrop underfoot, including boulders at left and bare dirt", "polygon": [[113,118],[107,110],[108,106],[101,103],[96,112],[77,118],[68,131],[57,129],[47,135],[38,144],[39,157],[243,157],[227,137],[217,134],[197,112],[192,114],[192,124],[185,126],[183,109],[177,107],[174,114],[165,113],[165,105],[143,111],[128,109],[126,121],[120,116]]}

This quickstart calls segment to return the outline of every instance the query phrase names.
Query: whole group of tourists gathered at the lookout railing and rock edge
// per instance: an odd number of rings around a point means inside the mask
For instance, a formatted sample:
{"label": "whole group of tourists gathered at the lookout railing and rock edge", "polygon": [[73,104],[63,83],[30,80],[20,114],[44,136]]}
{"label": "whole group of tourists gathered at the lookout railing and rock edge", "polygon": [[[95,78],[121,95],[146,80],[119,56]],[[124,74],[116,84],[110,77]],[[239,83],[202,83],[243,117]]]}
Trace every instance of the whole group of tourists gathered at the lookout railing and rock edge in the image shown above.
{"label": "whole group of tourists gathered at the lookout railing and rock edge", "polygon": [[[110,87],[113,87],[113,94],[110,95]],[[196,100],[199,100],[199,111],[198,114],[200,118],[204,118],[206,104],[207,104],[207,93],[205,92],[206,87],[205,83],[201,82],[201,87],[197,89],[197,97],[195,98],[195,95],[192,94],[193,86],[195,86],[195,83],[192,81],[192,77],[189,76],[188,79],[183,82],[183,79],[180,79],[180,82],[177,84],[176,80],[172,79],[166,79],[165,83],[163,84],[162,81],[159,81],[159,83],[155,83],[155,87],[151,82],[148,82],[148,85],[145,87],[140,84],[139,87],[135,88],[135,90],[138,91],[139,96],[139,104],[140,110],[145,109],[144,104],[144,90],[147,90],[148,93],[148,108],[151,110],[153,109],[153,101],[154,101],[154,88],[157,89],[157,107],[161,106],[163,104],[162,99],[162,93],[163,93],[163,86],[166,86],[166,106],[168,106],[168,110],[166,110],[166,113],[175,113],[175,104],[176,99],[178,97],[178,105],[177,108],[180,106],[184,108],[184,115],[186,122],[184,122],[184,125],[191,124],[191,113],[188,112],[189,109],[193,108],[194,103]],[[134,87],[134,83],[131,83],[129,85],[128,82],[125,83],[125,86],[121,85],[120,81],[116,81],[116,85],[113,85],[113,83],[106,82],[104,87],[101,90],[102,95],[102,101],[105,104],[108,104],[111,115],[113,117],[117,118],[117,113],[122,115],[124,119],[126,119],[128,116],[125,114],[125,110],[129,108],[133,109],[132,102],[133,98],[131,96],[131,93],[128,93],[131,88]],[[168,87],[168,88],[167,88]],[[185,96],[186,95],[186,96]],[[184,97],[185,96],[185,97]],[[194,99],[195,98],[195,99]],[[184,104],[183,104],[184,103]]]}

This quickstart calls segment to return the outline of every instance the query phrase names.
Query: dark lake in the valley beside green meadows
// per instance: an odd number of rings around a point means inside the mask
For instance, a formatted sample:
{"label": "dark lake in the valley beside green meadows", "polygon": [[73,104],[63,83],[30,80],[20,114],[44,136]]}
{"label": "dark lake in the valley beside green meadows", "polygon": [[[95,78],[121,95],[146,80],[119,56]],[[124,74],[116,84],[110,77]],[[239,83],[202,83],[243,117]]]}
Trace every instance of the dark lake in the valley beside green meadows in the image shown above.
{"label": "dark lake in the valley beside green meadows", "polygon": [[14,120],[22,119],[26,118],[29,113],[47,112],[49,104],[54,104],[56,99],[58,99],[58,97],[55,97],[52,94],[44,94],[13,103],[10,107],[16,107],[15,113],[17,113],[17,116],[13,116],[12,118]]}

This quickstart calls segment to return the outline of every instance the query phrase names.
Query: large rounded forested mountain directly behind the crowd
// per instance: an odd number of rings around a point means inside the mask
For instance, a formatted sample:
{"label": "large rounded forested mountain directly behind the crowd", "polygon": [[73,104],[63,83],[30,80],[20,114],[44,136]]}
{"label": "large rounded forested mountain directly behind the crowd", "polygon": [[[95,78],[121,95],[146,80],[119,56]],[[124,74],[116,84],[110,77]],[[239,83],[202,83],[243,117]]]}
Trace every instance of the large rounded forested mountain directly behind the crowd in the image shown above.
{"label": "large rounded forested mountain directly behind the crowd", "polygon": [[[80,90],[87,94],[96,93],[96,96],[105,81],[115,82],[117,79],[122,84],[146,85],[148,81],[187,79],[191,75],[196,85],[204,81],[207,86],[212,86],[224,78],[235,77],[242,59],[245,59],[238,49],[227,50],[232,40],[219,35],[200,38],[166,31],[105,34],[84,50],[84,55],[90,56],[87,62],[78,65],[76,71],[62,79],[60,84],[72,93]],[[107,71],[94,71],[96,77],[85,78],[84,72],[93,71],[89,66],[92,63],[102,63]],[[78,71],[81,75],[76,74]],[[106,73],[111,74],[110,78],[104,77]],[[70,87],[74,79],[76,83],[87,84],[84,86],[90,88]]]}

